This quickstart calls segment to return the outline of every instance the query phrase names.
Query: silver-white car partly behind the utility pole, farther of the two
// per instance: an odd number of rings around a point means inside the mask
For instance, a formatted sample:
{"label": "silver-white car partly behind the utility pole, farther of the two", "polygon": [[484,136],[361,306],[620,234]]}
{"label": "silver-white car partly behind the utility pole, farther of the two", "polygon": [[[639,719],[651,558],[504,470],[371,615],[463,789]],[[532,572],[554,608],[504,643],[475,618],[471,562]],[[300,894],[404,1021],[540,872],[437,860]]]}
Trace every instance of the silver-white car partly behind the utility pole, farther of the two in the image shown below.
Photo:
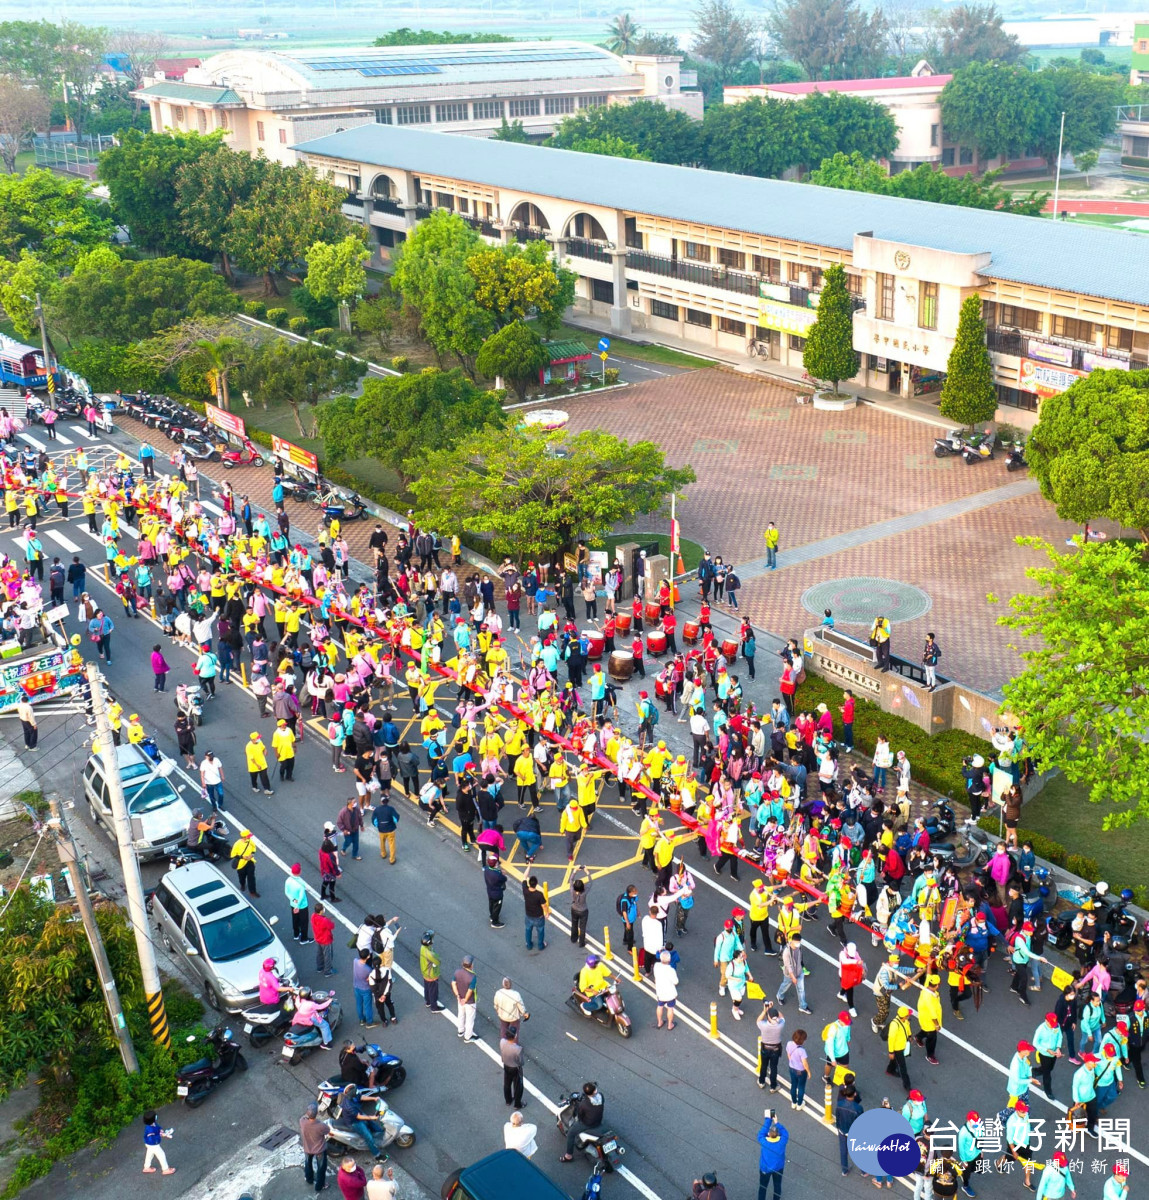
{"label": "silver-white car partly behind the utility pole, farther of the two", "polygon": [[[192,810],[180,792],[187,786],[172,784],[170,758],[157,763],[139,746],[116,746],[124,799],[132,822],[132,840],[140,859],[163,858],[176,851],[187,838]],[[92,820],[115,841],[115,821],[108,793],[103,757],[94,754],[84,768],[84,797]]]}

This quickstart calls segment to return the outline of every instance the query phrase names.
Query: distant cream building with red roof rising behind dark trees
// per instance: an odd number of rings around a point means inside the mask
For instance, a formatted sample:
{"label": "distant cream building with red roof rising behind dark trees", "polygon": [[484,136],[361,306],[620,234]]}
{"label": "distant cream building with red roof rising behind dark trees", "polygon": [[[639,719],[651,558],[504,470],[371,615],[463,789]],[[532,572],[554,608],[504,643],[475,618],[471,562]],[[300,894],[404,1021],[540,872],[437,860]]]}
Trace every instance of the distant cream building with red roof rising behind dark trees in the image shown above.
{"label": "distant cream building with red roof rising behind dark trees", "polygon": [[884,104],[898,126],[898,143],[890,158],[890,174],[913,170],[922,163],[940,167],[948,175],[967,175],[970,172],[1035,170],[1045,166],[1045,160],[1030,151],[1024,157],[1004,163],[1001,158],[979,158],[973,146],[951,142],[942,125],[942,90],[952,79],[949,74],[936,74],[933,67],[922,59],[908,76],[890,79],[830,79],[819,83],[769,83],[727,86],[722,98],[727,104],[738,104],[752,96],[772,96],[775,100],[801,100],[814,91],[838,91],[861,96]]}

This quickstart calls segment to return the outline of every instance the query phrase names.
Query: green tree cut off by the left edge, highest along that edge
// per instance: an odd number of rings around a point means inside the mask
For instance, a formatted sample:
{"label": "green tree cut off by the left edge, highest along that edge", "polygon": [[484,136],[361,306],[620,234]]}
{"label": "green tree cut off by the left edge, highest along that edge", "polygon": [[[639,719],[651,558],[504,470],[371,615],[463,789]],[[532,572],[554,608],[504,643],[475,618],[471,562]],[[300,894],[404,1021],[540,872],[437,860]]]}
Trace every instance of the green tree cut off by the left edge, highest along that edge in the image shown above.
{"label": "green tree cut off by the left edge, highest along that edge", "polygon": [[86,180],[38,167],[0,175],[0,257],[16,262],[26,250],[59,270],[107,245],[112,232],[107,206]]}

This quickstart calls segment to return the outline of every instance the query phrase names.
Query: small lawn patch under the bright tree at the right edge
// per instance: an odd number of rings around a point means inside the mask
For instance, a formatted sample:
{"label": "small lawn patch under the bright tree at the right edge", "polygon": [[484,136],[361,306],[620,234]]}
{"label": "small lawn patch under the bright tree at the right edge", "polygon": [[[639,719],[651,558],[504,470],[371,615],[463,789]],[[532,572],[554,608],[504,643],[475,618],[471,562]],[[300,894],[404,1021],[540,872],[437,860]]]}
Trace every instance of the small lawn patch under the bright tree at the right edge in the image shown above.
{"label": "small lawn patch under the bright tree at the right edge", "polygon": [[1129,829],[1106,832],[1101,822],[1111,811],[1105,804],[1090,804],[1083,787],[1055,775],[1022,809],[1021,823],[1060,842],[1071,853],[1096,859],[1101,878],[1114,892],[1149,883],[1144,866],[1149,856],[1149,823],[1141,821]]}

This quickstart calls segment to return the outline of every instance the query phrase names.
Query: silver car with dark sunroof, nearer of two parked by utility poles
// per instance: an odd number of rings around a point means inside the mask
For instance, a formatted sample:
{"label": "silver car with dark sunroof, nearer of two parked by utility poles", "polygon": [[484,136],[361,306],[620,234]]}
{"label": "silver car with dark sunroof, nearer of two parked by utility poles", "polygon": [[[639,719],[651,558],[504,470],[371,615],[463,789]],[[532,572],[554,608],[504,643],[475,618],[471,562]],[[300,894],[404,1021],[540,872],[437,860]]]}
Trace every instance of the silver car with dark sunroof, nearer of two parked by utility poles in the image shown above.
{"label": "silver car with dark sunroof, nearer of two parked by utility poles", "polygon": [[204,1000],[217,1012],[239,1013],[259,1003],[259,968],[276,959],[279,978],[295,983],[287,947],[239,888],[211,863],[168,871],[151,895],[163,944],[187,955],[204,982]]}

